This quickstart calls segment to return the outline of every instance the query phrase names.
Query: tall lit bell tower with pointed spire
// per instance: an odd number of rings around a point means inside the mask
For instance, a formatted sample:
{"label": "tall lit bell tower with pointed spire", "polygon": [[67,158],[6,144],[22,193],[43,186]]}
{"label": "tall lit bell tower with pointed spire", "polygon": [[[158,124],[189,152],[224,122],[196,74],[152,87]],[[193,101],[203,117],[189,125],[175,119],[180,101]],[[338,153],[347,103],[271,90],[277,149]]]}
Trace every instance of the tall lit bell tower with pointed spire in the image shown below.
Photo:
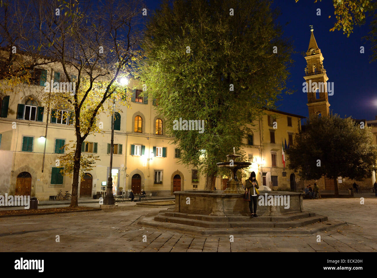
{"label": "tall lit bell tower with pointed spire", "polygon": [[[306,92],[308,94],[309,120],[313,117],[328,117],[329,106],[327,94],[326,70],[323,68],[323,56],[318,48],[313,34],[313,26],[310,25],[311,34],[308,51],[305,56],[307,67],[305,68]],[[304,90],[305,91],[305,90]]]}

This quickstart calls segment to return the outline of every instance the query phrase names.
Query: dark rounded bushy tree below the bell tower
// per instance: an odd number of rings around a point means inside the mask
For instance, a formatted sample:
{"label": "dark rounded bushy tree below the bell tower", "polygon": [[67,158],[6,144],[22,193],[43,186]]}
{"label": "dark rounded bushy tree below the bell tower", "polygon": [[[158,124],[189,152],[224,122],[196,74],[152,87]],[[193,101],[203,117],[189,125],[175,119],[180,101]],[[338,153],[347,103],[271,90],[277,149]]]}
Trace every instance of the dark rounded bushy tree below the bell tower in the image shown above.
{"label": "dark rounded bushy tree below the bell tower", "polygon": [[365,124],[336,114],[310,120],[287,150],[289,168],[305,180],[323,175],[334,179],[335,195],[339,195],[337,177],[361,180],[377,170],[377,146]]}

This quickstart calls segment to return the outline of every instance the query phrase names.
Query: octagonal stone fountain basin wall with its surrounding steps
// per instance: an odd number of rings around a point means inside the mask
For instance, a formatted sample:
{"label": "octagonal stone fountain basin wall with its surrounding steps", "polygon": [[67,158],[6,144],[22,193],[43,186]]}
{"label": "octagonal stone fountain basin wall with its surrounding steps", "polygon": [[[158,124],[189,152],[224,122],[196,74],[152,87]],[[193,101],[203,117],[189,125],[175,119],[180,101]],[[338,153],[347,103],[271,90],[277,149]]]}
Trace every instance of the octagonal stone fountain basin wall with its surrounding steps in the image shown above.
{"label": "octagonal stone fountain basin wall with its surrounding steps", "polygon": [[303,193],[260,193],[263,198],[258,197],[257,218],[250,217],[249,202],[244,201],[243,194],[179,191],[174,192],[175,208],[147,216],[138,224],[192,235],[308,235],[346,224],[305,212]]}

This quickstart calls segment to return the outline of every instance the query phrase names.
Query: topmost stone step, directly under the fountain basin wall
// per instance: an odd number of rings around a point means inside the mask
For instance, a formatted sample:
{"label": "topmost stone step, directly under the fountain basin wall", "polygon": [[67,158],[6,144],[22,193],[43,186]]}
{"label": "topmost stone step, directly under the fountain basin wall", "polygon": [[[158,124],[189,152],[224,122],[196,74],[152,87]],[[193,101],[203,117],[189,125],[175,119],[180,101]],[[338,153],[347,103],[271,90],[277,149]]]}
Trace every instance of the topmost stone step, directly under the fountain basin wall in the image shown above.
{"label": "topmost stone step, directly under the fountain basin wall", "polygon": [[309,212],[300,212],[300,213],[290,213],[287,215],[277,215],[277,216],[268,216],[268,215],[258,215],[258,217],[251,218],[250,215],[227,215],[227,216],[216,216],[216,215],[201,215],[201,214],[188,214],[188,213],[179,213],[179,212],[167,212],[166,210],[161,210],[159,216],[167,217],[179,217],[179,218],[190,218],[203,221],[216,221],[216,222],[228,222],[228,221],[291,221],[300,218],[307,218],[316,216],[315,213]]}

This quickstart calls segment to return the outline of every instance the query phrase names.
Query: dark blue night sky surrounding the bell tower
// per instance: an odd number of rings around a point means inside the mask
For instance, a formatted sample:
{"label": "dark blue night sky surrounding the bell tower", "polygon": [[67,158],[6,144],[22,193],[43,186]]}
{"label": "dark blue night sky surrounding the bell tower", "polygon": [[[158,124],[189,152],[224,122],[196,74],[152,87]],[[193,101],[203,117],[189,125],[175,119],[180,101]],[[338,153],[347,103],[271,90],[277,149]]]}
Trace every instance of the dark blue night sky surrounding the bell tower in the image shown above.
{"label": "dark blue night sky surrounding the bell tower", "polygon": [[[154,10],[159,6],[157,0],[147,0],[147,9]],[[330,110],[340,116],[352,116],[354,119],[375,119],[377,115],[377,62],[369,63],[369,43],[362,39],[369,32],[369,21],[366,25],[354,28],[347,38],[342,31],[330,32],[334,26],[335,15],[332,1],[323,0],[277,0],[273,7],[280,9],[279,22],[284,28],[284,36],[293,40],[295,61],[291,68],[290,88],[294,94],[283,95],[282,101],[276,103],[277,109],[293,114],[308,116],[307,94],[302,92],[305,81],[306,61],[302,56],[306,52],[310,39],[310,27],[314,26],[314,36],[324,57],[323,66],[329,78],[334,82],[334,95],[329,96]],[[321,9],[318,16],[317,8]],[[328,16],[331,15],[331,18]],[[288,25],[285,23],[289,22]],[[364,46],[365,53],[360,53]]]}

